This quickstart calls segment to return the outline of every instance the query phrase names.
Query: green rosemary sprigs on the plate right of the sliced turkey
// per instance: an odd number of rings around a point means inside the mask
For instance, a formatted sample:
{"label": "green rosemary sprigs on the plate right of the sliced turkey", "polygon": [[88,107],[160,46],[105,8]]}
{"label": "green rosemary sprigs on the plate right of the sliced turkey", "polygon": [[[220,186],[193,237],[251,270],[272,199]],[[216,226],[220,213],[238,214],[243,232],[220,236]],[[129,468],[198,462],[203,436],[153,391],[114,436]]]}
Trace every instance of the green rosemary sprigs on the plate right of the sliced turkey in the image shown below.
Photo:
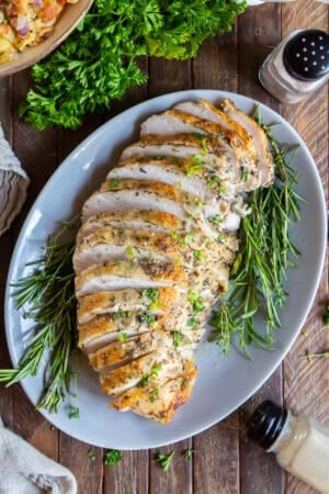
{"label": "green rosemary sprigs on the plate right of the sliced turkey", "polygon": [[[259,112],[256,120],[269,139],[275,180],[271,187],[258,189],[248,197],[250,214],[241,220],[241,248],[232,266],[230,289],[209,322],[214,327],[209,339],[220,345],[224,355],[228,353],[235,334],[248,356],[247,346],[252,343],[272,348],[273,330],[281,326],[277,310],[287,297],[286,270],[297,266],[300,254],[290,233],[291,223],[299,220],[303,201],[295,191],[297,172],[290,166],[294,155],[281,148],[272,127],[262,123]],[[256,314],[260,312],[265,314],[264,335],[256,324]]]}

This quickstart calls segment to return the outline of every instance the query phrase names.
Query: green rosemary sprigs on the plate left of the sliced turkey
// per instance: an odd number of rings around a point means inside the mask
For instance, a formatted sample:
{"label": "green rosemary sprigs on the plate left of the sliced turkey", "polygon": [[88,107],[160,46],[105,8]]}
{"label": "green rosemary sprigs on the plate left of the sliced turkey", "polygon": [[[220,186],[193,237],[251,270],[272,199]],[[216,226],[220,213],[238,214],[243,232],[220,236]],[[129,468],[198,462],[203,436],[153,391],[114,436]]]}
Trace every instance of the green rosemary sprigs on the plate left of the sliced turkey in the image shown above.
{"label": "green rosemary sprigs on the plate left of the sliced turkey", "polygon": [[[66,222],[64,229],[71,226],[72,222]],[[46,361],[44,393],[37,408],[49,412],[57,412],[77,375],[70,359],[77,347],[75,242],[59,242],[64,229],[49,238],[42,258],[27,265],[34,267],[33,272],[12,284],[16,289],[13,296],[18,310],[24,308],[25,317],[32,318],[35,327],[16,369],[0,370],[0,381],[9,386],[36,375],[41,363]]]}

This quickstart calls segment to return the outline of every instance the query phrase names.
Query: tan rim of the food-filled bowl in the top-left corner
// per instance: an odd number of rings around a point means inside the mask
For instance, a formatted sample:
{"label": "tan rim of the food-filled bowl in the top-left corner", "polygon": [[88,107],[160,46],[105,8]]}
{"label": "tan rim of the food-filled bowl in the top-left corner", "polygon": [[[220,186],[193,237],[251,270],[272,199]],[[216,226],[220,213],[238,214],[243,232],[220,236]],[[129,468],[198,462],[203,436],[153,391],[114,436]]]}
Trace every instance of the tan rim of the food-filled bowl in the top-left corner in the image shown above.
{"label": "tan rim of the food-filled bowl in the top-left corner", "polygon": [[44,41],[36,46],[26,47],[22,53],[16,53],[12,60],[0,64],[0,77],[11,76],[25,69],[57,48],[86,15],[92,3],[93,0],[67,3],[54,31]]}

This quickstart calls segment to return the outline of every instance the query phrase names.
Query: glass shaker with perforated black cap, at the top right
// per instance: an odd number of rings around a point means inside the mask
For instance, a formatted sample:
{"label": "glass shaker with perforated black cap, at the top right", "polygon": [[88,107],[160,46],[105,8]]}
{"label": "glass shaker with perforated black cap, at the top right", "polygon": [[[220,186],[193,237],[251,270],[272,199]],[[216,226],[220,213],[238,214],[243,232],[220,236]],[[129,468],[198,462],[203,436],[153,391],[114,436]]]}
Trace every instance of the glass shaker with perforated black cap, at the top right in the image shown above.
{"label": "glass shaker with perforated black cap, at the top right", "polygon": [[319,30],[291,33],[259,71],[262,86],[283,103],[297,103],[329,79],[329,35]]}

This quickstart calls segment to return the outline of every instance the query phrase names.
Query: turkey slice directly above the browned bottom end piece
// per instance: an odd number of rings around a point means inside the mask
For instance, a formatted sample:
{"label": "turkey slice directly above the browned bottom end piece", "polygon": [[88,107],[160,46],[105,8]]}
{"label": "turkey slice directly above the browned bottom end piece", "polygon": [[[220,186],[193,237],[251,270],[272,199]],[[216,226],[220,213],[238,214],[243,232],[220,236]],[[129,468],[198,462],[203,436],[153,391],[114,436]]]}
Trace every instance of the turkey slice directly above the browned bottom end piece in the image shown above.
{"label": "turkey slice directly above the browned bottom end piece", "polygon": [[[101,373],[99,379],[102,390],[107,395],[117,395],[139,382],[154,381],[154,379],[172,379],[184,372],[191,364],[192,349],[157,350],[131,362]],[[179,356],[179,358],[178,358]]]}

